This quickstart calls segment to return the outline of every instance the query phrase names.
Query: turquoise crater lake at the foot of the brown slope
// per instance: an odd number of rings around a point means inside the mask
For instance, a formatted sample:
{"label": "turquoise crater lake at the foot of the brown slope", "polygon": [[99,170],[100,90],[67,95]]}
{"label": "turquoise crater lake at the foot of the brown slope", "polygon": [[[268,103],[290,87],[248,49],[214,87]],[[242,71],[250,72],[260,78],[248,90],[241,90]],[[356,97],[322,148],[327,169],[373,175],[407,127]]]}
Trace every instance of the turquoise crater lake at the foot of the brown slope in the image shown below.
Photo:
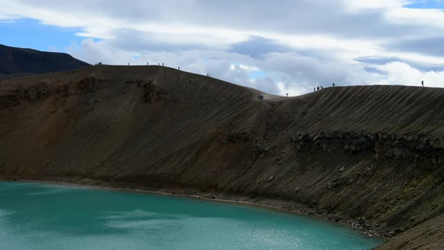
{"label": "turquoise crater lake at the foot of the brown slope", "polygon": [[0,249],[371,249],[321,219],[156,194],[0,182]]}

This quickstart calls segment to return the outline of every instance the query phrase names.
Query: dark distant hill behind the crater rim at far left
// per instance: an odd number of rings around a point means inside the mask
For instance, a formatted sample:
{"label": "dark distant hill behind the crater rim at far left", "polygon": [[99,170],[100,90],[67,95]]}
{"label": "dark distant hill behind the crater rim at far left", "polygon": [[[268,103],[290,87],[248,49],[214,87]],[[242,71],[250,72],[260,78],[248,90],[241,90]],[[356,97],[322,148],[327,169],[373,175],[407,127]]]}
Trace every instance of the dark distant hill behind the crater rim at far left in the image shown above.
{"label": "dark distant hill behind the crater rim at far left", "polygon": [[8,47],[0,44],[0,80],[28,74],[62,72],[89,66],[67,53]]}

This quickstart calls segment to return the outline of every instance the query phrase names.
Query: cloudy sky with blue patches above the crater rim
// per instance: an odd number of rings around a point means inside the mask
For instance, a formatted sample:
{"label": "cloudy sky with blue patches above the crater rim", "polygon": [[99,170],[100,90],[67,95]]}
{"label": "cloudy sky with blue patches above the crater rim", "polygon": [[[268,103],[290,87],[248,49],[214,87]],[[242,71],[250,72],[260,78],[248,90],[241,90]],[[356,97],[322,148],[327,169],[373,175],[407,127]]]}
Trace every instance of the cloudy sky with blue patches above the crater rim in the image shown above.
{"label": "cloudy sky with blue patches above the crater rim", "polygon": [[165,63],[272,94],[444,87],[444,0],[0,0],[0,44]]}

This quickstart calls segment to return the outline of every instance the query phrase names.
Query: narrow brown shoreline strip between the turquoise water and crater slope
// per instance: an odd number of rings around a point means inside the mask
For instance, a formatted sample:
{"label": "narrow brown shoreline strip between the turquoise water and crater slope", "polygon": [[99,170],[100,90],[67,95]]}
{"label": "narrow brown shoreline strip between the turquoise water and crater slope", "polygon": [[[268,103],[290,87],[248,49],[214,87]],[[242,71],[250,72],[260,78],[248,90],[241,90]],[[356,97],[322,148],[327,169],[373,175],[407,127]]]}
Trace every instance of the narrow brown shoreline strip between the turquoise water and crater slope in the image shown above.
{"label": "narrow brown shoreline strip between the turquoise water and crater slope", "polygon": [[[300,208],[305,207],[300,203],[296,203],[294,201],[280,201],[275,199],[265,199],[261,197],[256,197],[254,199],[243,197],[243,196],[236,196],[233,194],[221,194],[221,193],[201,193],[196,192],[197,194],[190,194],[189,190],[181,190],[178,188],[167,188],[167,189],[157,189],[157,190],[148,190],[148,188],[145,187],[145,189],[142,188],[127,188],[126,186],[122,187],[112,187],[111,185],[107,185],[108,183],[105,182],[99,182],[96,180],[89,180],[99,183],[79,183],[79,182],[69,182],[69,181],[45,181],[45,180],[33,180],[33,179],[15,179],[15,178],[1,178],[0,181],[7,181],[7,182],[21,182],[21,183],[42,183],[42,184],[52,184],[52,185],[60,185],[60,186],[67,186],[67,187],[74,187],[74,188],[88,188],[88,189],[96,189],[96,190],[109,190],[109,191],[119,191],[119,192],[133,192],[133,193],[141,193],[141,194],[156,194],[156,195],[164,195],[169,197],[180,197],[185,199],[196,199],[196,200],[203,200],[203,201],[215,201],[217,203],[228,203],[231,205],[237,205],[237,206],[250,206],[253,208],[259,208],[263,210],[272,210],[277,213],[288,213],[291,215],[299,215],[303,217],[311,217],[311,219],[318,219],[323,220],[324,222],[329,222],[332,224],[336,224],[337,226],[346,226],[352,230],[355,230],[359,232],[363,237],[367,238],[379,238],[380,240],[383,240],[386,242],[389,238],[384,236],[382,233],[378,231],[370,231],[366,228],[357,228],[356,223],[352,220],[341,220],[341,222],[336,222],[332,217],[329,215],[322,215],[318,213],[313,213],[313,211],[309,210],[309,212],[305,212],[303,210],[294,210],[285,208],[285,206],[288,206],[289,203],[292,205],[298,204]],[[172,192],[174,190],[174,192]],[[216,198],[215,195],[223,196],[223,199]],[[257,201],[255,201],[257,199]],[[382,244],[384,244],[384,242]]]}

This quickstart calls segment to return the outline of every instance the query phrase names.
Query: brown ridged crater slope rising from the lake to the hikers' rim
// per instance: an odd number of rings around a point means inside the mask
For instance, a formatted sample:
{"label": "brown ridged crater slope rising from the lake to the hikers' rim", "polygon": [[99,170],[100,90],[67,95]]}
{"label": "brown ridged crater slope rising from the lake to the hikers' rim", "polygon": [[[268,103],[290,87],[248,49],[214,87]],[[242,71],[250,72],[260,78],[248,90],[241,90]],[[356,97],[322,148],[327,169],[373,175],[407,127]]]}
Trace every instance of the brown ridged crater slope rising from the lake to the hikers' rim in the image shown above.
{"label": "brown ridged crater slope rising from the lake to the hikers' rim", "polygon": [[444,213],[443,89],[259,94],[159,66],[2,81],[0,177],[279,201],[399,235],[390,248],[444,243],[424,233]]}

